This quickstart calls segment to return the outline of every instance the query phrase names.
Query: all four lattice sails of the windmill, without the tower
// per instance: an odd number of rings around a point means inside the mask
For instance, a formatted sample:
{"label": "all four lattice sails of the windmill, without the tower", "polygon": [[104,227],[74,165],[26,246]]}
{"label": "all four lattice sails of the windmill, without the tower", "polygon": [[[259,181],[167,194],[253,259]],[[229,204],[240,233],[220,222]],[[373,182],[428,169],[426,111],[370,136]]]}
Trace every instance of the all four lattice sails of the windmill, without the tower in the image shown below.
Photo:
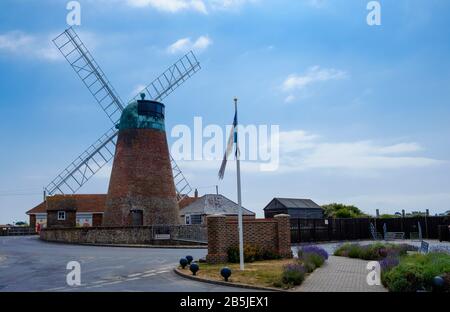
{"label": "all four lattice sails of the windmill, without the tower", "polygon": [[[76,193],[113,159],[119,133],[117,124],[125,109],[125,105],[105,73],[72,27],[57,36],[53,43],[106,113],[113,126],[45,187],[45,193],[50,196]],[[200,63],[190,51],[145,87],[129,103],[138,100],[141,94],[145,95],[147,99],[162,101],[199,70]],[[192,191],[192,188],[172,156],[170,156],[170,166],[176,198],[181,201]]]}

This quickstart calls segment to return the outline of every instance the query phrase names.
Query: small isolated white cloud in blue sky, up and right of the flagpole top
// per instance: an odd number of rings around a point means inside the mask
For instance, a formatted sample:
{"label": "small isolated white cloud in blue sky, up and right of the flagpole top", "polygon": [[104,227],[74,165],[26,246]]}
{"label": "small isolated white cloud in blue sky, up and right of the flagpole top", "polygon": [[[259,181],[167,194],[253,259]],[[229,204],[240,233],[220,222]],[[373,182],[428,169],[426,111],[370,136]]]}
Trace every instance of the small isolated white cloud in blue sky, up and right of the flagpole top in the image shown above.
{"label": "small isolated white cloud in blue sky, up and right of the flagpole top", "polygon": [[342,80],[348,77],[347,72],[334,68],[320,68],[320,66],[310,67],[303,75],[291,74],[283,82],[281,89],[289,92],[302,90],[309,85],[330,80]]}

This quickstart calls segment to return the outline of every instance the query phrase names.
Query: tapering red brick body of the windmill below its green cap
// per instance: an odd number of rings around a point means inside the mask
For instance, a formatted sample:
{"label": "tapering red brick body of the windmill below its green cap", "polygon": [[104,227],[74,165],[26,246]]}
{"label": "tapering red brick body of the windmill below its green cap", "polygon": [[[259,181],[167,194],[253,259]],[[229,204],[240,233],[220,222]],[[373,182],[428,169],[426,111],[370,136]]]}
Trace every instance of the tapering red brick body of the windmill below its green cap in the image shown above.
{"label": "tapering red brick body of the windmill below its green cap", "polygon": [[143,225],[179,223],[165,132],[153,129],[119,132],[103,225],[132,225],[133,209],[143,211]]}

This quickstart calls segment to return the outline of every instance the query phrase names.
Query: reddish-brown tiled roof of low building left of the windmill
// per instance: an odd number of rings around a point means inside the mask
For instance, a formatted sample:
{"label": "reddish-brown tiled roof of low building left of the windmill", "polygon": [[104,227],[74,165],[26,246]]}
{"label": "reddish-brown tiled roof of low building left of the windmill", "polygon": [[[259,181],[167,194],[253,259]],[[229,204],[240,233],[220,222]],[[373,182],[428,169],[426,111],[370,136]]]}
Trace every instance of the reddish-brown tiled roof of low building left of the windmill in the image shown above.
{"label": "reddish-brown tiled roof of low building left of the windmill", "polygon": [[106,194],[55,195],[47,197],[27,214],[46,213],[49,210],[76,209],[77,212],[101,213],[105,211]]}

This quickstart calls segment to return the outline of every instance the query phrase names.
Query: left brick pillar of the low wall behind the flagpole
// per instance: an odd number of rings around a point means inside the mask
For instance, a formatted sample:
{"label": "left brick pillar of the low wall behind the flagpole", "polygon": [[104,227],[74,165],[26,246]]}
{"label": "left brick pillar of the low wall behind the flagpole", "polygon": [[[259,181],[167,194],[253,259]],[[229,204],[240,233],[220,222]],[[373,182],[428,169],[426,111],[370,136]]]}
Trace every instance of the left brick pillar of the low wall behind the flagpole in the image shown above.
{"label": "left brick pillar of the low wall behind the flagpole", "polygon": [[208,227],[208,263],[224,263],[228,260],[226,217],[222,215],[207,216]]}

